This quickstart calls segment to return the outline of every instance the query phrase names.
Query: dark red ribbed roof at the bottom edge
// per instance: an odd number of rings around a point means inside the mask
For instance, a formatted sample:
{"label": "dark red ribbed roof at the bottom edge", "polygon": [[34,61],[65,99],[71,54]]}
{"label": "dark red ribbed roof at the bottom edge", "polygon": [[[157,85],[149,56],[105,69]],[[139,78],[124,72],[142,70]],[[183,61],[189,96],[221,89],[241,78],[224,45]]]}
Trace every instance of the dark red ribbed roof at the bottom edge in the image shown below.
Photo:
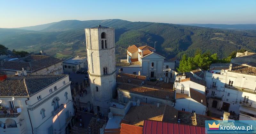
{"label": "dark red ribbed roof at the bottom edge", "polygon": [[205,134],[204,127],[145,120],[143,134]]}

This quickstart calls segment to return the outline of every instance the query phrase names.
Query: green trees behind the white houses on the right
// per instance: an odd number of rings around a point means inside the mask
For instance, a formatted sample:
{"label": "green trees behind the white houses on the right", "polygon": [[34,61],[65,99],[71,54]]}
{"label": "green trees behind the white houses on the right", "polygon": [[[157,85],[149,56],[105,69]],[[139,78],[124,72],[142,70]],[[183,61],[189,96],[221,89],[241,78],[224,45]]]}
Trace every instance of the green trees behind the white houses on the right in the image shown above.
{"label": "green trees behind the white houses on the right", "polygon": [[212,63],[230,63],[231,59],[236,57],[237,52],[245,52],[245,49],[233,51],[227,58],[219,59],[217,53],[210,54],[209,52],[202,53],[201,49],[197,49],[194,57],[188,57],[183,54],[180,60],[178,72],[190,72],[196,68],[208,70]]}

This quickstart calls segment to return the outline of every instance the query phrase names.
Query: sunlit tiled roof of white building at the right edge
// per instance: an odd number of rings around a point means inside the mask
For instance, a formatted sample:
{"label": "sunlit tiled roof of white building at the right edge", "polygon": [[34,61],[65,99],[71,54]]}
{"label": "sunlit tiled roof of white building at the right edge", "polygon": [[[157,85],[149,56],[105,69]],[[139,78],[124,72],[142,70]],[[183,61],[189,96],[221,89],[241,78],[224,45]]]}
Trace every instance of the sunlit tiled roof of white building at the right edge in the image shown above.
{"label": "sunlit tiled roof of white building at the right edge", "polygon": [[240,74],[256,75],[256,67],[248,67],[232,63],[231,71]]}

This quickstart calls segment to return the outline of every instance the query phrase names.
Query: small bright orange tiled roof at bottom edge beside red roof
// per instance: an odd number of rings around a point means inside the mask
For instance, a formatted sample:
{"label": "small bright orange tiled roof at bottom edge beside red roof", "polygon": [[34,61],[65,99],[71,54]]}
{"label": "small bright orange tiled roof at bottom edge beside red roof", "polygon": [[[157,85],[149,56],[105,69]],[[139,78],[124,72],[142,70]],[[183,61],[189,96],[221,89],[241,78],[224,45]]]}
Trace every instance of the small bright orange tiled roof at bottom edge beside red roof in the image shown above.
{"label": "small bright orange tiled roof at bottom edge beside red roof", "polygon": [[142,134],[142,127],[122,123],[120,134]]}

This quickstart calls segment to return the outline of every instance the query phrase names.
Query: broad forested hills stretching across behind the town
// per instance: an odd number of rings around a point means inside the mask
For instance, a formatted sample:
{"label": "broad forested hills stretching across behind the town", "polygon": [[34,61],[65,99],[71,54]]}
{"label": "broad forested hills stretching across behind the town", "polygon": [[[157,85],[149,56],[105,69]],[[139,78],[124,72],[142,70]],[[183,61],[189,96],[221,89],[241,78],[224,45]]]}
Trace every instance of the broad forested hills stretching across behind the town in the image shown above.
{"label": "broad forested hills stretching across behind the town", "polygon": [[[126,56],[132,44],[149,45],[166,58],[193,55],[197,49],[218,53],[220,58],[232,51],[246,49],[256,52],[255,30],[225,30],[189,25],[152,22],[130,22],[120,19],[63,20],[44,26],[23,29],[0,29],[0,44],[9,49],[28,52],[44,50],[56,57],[86,55],[84,28],[97,25],[114,27],[117,59]],[[31,31],[28,29],[36,29]],[[44,28],[44,29],[43,29]]]}

